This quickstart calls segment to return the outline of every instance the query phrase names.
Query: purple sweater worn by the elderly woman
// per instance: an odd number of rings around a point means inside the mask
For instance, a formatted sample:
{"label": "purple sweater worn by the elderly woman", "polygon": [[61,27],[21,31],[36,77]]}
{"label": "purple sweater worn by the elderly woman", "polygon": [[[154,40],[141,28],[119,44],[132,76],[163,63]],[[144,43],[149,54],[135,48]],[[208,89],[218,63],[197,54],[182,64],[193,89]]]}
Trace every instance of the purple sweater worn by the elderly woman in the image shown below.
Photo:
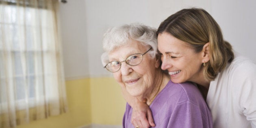
{"label": "purple sweater worn by the elderly woman", "polygon": [[[213,128],[212,115],[200,91],[186,82],[168,82],[150,105],[155,128]],[[134,128],[132,108],[126,104],[123,128]]]}

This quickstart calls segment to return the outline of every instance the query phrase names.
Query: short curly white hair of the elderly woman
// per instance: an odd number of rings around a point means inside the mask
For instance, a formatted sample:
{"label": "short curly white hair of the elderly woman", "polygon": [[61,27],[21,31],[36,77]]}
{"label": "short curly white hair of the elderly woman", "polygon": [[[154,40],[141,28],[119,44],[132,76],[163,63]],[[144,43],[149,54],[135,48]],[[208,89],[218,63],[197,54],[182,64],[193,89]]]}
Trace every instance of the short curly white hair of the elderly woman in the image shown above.
{"label": "short curly white hair of the elderly woman", "polygon": [[139,23],[132,23],[129,25],[125,24],[110,28],[104,34],[103,50],[105,53],[103,53],[101,56],[102,65],[105,66],[108,63],[108,52],[111,52],[117,47],[125,46],[132,40],[139,41],[145,46],[151,46],[153,51],[149,51],[148,53],[152,56],[152,58],[156,57],[156,28]]}

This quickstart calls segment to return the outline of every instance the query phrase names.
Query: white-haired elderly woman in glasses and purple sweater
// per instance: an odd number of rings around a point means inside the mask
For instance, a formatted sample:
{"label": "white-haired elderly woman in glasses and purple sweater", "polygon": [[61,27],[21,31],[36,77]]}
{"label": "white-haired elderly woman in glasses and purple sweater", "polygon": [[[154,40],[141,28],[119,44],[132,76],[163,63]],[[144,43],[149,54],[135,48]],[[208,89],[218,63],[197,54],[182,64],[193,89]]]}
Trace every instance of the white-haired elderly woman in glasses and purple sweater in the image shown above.
{"label": "white-haired elderly woman in glasses and purple sweater", "polygon": [[[114,27],[104,35],[102,63],[113,73],[124,95],[150,106],[156,128],[212,128],[211,113],[200,91],[190,82],[175,84],[161,70],[156,29],[142,24]],[[126,104],[123,127],[132,124]]]}

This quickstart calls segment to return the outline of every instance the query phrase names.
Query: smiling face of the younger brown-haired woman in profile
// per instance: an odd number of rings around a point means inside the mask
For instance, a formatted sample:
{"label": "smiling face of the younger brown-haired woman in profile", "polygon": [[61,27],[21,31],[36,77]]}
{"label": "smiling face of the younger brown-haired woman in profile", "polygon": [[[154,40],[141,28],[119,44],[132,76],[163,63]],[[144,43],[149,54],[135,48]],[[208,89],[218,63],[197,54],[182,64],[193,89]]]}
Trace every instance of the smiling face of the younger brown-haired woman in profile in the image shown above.
{"label": "smiling face of the younger brown-haired woman in profile", "polygon": [[169,33],[158,35],[158,50],[162,54],[163,70],[168,70],[171,81],[181,83],[195,82],[202,73],[202,53],[195,53],[186,43]]}

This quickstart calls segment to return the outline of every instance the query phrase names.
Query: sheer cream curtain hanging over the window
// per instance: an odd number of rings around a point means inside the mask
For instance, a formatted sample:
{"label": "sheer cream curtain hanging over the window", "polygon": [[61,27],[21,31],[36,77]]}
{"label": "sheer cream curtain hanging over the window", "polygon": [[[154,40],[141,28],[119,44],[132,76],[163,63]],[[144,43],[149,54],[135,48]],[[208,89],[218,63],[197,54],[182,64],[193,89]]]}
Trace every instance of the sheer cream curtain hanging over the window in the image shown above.
{"label": "sheer cream curtain hanging over the window", "polygon": [[0,128],[67,110],[58,0],[0,0]]}

